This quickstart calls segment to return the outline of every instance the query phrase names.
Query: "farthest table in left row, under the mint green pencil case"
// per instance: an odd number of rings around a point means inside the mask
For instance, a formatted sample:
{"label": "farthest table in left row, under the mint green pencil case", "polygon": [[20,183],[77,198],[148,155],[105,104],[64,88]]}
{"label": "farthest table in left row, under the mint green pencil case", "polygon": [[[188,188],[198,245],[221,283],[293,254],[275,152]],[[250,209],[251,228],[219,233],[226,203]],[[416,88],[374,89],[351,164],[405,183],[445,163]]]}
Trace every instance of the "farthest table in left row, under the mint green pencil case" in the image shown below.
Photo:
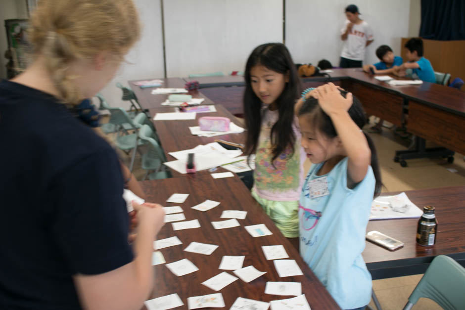
{"label": "farthest table in left row, under the mint green pencil case", "polygon": [[[154,80],[154,79],[148,79],[148,80]],[[167,78],[167,79],[161,78],[157,80],[163,81],[161,88],[184,89],[184,86],[186,84],[186,82],[181,78]],[[141,89],[139,86],[134,84],[134,82],[138,82],[138,81],[143,81],[143,80],[129,81],[129,86],[136,94],[136,97],[138,98],[139,103],[143,109],[165,107],[161,105],[161,103],[164,102],[166,99],[168,99],[168,96],[170,94],[152,94],[152,90],[156,89],[155,87]],[[183,94],[192,95],[192,98],[205,98],[205,101],[203,101],[202,104],[213,104],[213,102],[208,97],[204,96],[198,90],[190,90],[189,92],[186,92]]]}

